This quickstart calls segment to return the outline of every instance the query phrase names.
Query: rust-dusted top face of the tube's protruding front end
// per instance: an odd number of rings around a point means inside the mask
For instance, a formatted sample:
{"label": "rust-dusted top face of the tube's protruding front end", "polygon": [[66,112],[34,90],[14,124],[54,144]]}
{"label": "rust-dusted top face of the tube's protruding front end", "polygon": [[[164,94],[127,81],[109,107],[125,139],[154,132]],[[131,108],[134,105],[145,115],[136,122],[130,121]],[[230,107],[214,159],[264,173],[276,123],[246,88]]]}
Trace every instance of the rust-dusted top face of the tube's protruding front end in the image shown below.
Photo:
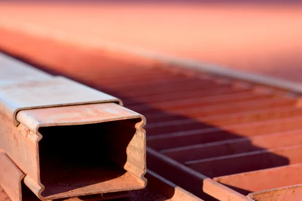
{"label": "rust-dusted top face of the tube's protruding front end", "polygon": [[[96,124],[144,117],[114,103],[86,104],[20,111],[17,120],[32,132],[40,127]],[[142,129],[144,123],[139,125]]]}

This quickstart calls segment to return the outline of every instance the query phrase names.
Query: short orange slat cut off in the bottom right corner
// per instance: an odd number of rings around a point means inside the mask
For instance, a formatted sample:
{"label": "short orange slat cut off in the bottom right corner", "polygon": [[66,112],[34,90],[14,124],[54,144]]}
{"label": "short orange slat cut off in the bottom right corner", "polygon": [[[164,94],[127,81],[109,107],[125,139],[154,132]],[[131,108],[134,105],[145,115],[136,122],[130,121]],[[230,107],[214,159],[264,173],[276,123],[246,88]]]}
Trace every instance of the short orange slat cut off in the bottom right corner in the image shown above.
{"label": "short orange slat cut off in the bottom right corner", "polygon": [[299,201],[302,197],[302,184],[252,192],[248,196],[257,201]]}

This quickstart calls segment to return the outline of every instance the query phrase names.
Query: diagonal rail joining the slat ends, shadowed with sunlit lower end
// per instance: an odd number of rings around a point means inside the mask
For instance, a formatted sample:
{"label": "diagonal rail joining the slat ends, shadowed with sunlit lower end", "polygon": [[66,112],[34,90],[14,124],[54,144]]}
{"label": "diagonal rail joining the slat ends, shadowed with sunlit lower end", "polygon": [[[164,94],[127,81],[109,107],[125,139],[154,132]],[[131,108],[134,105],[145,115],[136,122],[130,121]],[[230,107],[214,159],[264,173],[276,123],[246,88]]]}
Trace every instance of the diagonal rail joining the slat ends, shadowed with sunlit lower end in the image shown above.
{"label": "diagonal rail joining the slat ends, shadowed with sunlit lower end", "polygon": [[[166,179],[169,179],[171,182],[183,187],[204,200],[211,200],[212,197],[221,201],[251,200],[235,190],[160,154],[149,147],[147,147],[147,158],[148,167],[152,171],[157,172],[157,174],[164,176]],[[169,169],[169,171],[166,171],[167,169]]]}

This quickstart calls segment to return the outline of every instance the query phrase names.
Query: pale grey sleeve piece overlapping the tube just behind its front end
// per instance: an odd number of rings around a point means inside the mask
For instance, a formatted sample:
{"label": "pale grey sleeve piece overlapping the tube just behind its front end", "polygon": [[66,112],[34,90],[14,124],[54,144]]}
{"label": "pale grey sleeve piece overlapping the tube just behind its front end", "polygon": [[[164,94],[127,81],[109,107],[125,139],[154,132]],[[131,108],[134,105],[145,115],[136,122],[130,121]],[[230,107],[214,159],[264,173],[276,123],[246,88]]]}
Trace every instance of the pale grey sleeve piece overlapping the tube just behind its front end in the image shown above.
{"label": "pale grey sleeve piece overlapping the tube just behind its front end", "polygon": [[122,104],[116,97],[64,77],[0,86],[0,101],[2,113],[15,126],[18,125],[16,115],[21,110],[106,102]]}

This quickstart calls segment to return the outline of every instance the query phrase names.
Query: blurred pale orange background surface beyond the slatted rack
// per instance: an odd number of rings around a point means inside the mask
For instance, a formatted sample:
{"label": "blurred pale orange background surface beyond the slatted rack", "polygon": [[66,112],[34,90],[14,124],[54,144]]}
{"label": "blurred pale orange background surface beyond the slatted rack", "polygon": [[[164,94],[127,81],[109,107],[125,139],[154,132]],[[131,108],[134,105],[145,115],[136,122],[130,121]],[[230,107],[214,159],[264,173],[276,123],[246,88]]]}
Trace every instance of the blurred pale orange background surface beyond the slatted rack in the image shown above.
{"label": "blurred pale orange background surface beyond the slatted rack", "polygon": [[10,46],[5,31],[58,31],[75,45],[110,41],[302,81],[302,5],[284,2],[1,2],[0,49]]}

